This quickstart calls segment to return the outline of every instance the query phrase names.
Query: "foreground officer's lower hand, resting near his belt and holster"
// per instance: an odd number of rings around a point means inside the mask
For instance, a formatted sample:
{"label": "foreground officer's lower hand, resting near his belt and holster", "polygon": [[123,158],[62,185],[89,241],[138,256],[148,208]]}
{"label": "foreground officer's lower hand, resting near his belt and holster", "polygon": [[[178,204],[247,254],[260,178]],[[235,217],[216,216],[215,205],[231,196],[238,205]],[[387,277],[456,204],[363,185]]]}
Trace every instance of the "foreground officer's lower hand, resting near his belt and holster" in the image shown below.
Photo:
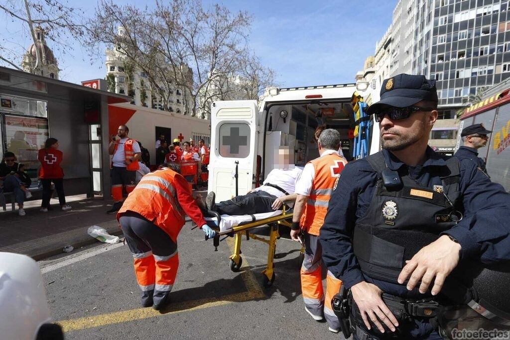
{"label": "foreground officer's lower hand, resting near his belt and holster", "polygon": [[380,321],[384,322],[384,324],[391,329],[392,332],[395,331],[395,327],[398,326],[398,321],[390,308],[388,308],[386,303],[382,301],[382,291],[378,286],[362,281],[351,287],[351,293],[354,302],[360,309],[363,322],[365,322],[365,326],[367,326],[368,329],[371,329],[370,322],[368,320],[370,318],[381,333],[384,333],[385,329],[382,327]]}

